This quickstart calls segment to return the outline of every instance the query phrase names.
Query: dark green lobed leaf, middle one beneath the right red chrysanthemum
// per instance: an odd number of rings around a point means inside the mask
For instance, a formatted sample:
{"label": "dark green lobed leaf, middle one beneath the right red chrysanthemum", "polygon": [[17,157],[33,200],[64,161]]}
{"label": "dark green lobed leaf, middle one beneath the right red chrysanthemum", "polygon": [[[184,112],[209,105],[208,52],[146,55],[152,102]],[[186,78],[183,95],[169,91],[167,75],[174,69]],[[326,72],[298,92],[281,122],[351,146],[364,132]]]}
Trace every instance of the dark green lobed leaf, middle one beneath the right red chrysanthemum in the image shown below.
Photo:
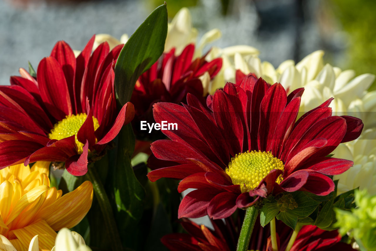
{"label": "dark green lobed leaf, middle one beneath the right red chrysanthemum", "polygon": [[294,209],[287,209],[286,211],[290,214],[294,214],[299,217],[299,219],[305,218],[309,216],[317,206],[320,204],[320,202],[317,202],[316,200],[309,197],[306,193],[302,191],[294,192],[293,198],[298,204],[297,208]]}

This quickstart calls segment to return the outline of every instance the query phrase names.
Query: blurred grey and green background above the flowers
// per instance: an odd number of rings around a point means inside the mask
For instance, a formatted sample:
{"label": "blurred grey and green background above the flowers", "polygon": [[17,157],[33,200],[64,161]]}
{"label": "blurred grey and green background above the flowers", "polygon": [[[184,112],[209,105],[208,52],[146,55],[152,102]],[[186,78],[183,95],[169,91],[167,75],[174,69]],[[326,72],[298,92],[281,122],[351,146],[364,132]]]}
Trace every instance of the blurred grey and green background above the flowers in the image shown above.
{"label": "blurred grey and green background above the flowers", "polygon": [[[92,34],[131,35],[161,0],[0,0],[0,84],[18,68],[36,67],[58,40],[81,50]],[[318,49],[327,63],[376,74],[374,0],[166,0],[170,19],[188,7],[199,38],[219,28],[212,45],[247,44],[277,67]],[[206,48],[206,49],[209,49]],[[371,89],[375,88],[375,83]]]}

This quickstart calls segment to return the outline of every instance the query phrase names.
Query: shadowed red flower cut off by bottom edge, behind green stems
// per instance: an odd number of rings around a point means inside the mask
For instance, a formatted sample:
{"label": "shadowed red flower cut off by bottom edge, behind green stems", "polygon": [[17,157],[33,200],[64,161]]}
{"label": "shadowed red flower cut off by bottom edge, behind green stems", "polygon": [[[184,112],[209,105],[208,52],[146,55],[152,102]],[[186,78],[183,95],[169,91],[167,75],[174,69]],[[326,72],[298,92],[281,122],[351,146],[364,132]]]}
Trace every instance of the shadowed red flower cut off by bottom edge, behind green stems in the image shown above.
{"label": "shadowed red flower cut off by bottom edge, behind green stems", "polygon": [[[241,228],[241,220],[235,222],[232,217],[222,220],[212,220],[214,230],[205,225],[183,219],[182,227],[187,233],[167,234],[161,242],[171,251],[233,251]],[[247,250],[272,251],[270,225],[261,227],[256,220]],[[276,221],[276,237],[278,250],[284,251],[288,245],[293,230],[280,220]],[[351,245],[341,242],[341,235],[337,230],[325,231],[316,226],[303,226],[299,231],[290,251],[311,250],[343,250],[355,251]]]}

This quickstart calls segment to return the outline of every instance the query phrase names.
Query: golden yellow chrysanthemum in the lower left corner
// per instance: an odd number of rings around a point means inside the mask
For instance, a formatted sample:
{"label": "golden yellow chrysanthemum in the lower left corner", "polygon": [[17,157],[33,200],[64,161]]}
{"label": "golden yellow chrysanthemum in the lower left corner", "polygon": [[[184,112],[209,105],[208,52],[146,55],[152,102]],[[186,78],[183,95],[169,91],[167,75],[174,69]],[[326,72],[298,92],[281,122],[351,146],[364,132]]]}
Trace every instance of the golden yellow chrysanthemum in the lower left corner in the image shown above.
{"label": "golden yellow chrysanthemum in the lower left corner", "polygon": [[77,225],[91,207],[93,189],[89,181],[62,196],[50,187],[50,162],[23,164],[0,170],[0,238],[15,248],[27,251],[38,234],[40,250],[51,250],[56,231]]}

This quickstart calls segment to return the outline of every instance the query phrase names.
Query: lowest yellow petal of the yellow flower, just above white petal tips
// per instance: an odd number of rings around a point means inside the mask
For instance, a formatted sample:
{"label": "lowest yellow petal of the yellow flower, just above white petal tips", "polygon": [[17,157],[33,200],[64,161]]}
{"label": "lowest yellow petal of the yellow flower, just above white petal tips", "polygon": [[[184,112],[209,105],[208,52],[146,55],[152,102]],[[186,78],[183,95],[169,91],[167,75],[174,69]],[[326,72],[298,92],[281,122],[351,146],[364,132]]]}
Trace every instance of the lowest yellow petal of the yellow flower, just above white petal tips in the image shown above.
{"label": "lowest yellow petal of the yellow flower, just above white petal tips", "polygon": [[38,234],[39,248],[48,251],[52,249],[56,238],[56,232],[44,220],[12,232],[24,246],[29,246],[33,237]]}

